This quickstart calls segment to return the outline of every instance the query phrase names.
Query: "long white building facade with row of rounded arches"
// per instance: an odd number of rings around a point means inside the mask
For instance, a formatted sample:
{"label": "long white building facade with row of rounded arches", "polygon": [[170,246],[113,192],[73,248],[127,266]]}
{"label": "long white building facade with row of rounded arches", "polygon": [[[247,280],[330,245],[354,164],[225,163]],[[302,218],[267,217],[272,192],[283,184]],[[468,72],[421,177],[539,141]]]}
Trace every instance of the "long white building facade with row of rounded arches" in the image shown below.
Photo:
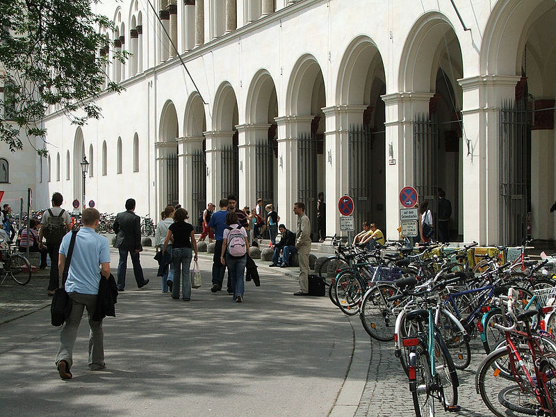
{"label": "long white building facade with row of rounded arches", "polygon": [[103,118],[82,127],[51,111],[36,205],[81,201],[85,155],[86,199],[108,213],[133,197],[139,214],[179,202],[194,220],[234,193],[295,229],[293,203],[314,219],[323,191],[327,235],[347,194],[357,227],[398,238],[399,193],[415,186],[433,211],[445,190],[453,240],[555,238],[555,1],[97,7],[117,28],[99,54],[133,54],[107,69],[125,91],[101,94]]}

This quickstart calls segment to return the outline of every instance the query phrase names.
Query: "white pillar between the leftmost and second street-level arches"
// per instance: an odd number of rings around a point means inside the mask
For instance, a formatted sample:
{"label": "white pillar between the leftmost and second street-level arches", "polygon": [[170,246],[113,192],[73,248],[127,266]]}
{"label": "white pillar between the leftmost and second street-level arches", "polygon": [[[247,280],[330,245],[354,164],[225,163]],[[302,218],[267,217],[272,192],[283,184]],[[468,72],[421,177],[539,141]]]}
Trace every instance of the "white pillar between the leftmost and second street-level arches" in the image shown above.
{"label": "white pillar between the leftmost and second street-level arches", "polygon": [[[190,213],[193,222],[197,215],[197,207],[193,207],[193,153],[203,149],[203,136],[186,136],[177,138],[178,170],[179,170],[179,201]],[[206,175],[206,172],[203,172]]]}

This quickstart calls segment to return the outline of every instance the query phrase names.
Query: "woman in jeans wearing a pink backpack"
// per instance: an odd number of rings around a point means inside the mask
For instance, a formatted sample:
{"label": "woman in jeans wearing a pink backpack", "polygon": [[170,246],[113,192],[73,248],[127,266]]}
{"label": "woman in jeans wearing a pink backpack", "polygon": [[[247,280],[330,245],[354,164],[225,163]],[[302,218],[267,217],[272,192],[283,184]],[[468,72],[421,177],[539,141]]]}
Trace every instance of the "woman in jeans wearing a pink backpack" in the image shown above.
{"label": "woman in jeans wearing a pink backpack", "polygon": [[[247,232],[238,224],[238,215],[235,211],[230,211],[226,215],[226,224],[228,227],[224,229],[224,240],[222,241],[222,254],[220,255],[220,262],[222,265],[228,265],[228,274],[231,279],[231,288],[234,289],[234,297],[232,300],[236,302],[243,302],[243,291],[245,283],[243,276],[245,275],[245,263],[247,262],[247,255],[249,252],[249,241],[247,240]],[[228,249],[228,236],[231,229],[239,229],[245,240],[245,254],[243,256],[231,256]],[[224,254],[226,258],[224,259]]]}

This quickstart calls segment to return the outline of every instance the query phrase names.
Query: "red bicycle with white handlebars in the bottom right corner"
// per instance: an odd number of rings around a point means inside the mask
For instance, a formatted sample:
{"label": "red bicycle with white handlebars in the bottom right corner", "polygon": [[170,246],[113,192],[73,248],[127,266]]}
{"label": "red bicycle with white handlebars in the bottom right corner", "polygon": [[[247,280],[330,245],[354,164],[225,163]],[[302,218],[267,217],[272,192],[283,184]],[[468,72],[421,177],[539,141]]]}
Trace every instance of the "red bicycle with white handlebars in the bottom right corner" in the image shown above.
{"label": "red bicycle with white handlebars in the bottom right corner", "polygon": [[[516,315],[518,295],[510,288],[507,317],[511,325],[494,326],[505,334],[506,345],[491,352],[481,363],[475,377],[475,389],[493,414],[507,416],[507,411],[532,416],[556,415],[556,352],[546,352],[543,343],[532,333],[529,320],[540,311]],[[503,308],[504,302],[501,303]],[[538,318],[538,317],[537,317]],[[525,332],[516,329],[518,322]],[[525,340],[516,345],[514,339]]]}

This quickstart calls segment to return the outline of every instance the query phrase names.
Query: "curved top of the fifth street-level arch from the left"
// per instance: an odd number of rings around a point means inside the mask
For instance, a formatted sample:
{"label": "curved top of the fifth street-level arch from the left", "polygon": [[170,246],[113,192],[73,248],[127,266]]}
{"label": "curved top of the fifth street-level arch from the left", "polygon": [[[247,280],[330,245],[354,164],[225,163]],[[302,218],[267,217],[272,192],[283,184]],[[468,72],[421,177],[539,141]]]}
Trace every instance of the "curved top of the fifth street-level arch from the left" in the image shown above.
{"label": "curved top of the fifth street-level arch from the left", "polygon": [[[286,91],[286,115],[310,115],[313,90],[322,80],[322,70],[314,56],[305,54],[293,66]],[[325,91],[324,91],[325,92]]]}

